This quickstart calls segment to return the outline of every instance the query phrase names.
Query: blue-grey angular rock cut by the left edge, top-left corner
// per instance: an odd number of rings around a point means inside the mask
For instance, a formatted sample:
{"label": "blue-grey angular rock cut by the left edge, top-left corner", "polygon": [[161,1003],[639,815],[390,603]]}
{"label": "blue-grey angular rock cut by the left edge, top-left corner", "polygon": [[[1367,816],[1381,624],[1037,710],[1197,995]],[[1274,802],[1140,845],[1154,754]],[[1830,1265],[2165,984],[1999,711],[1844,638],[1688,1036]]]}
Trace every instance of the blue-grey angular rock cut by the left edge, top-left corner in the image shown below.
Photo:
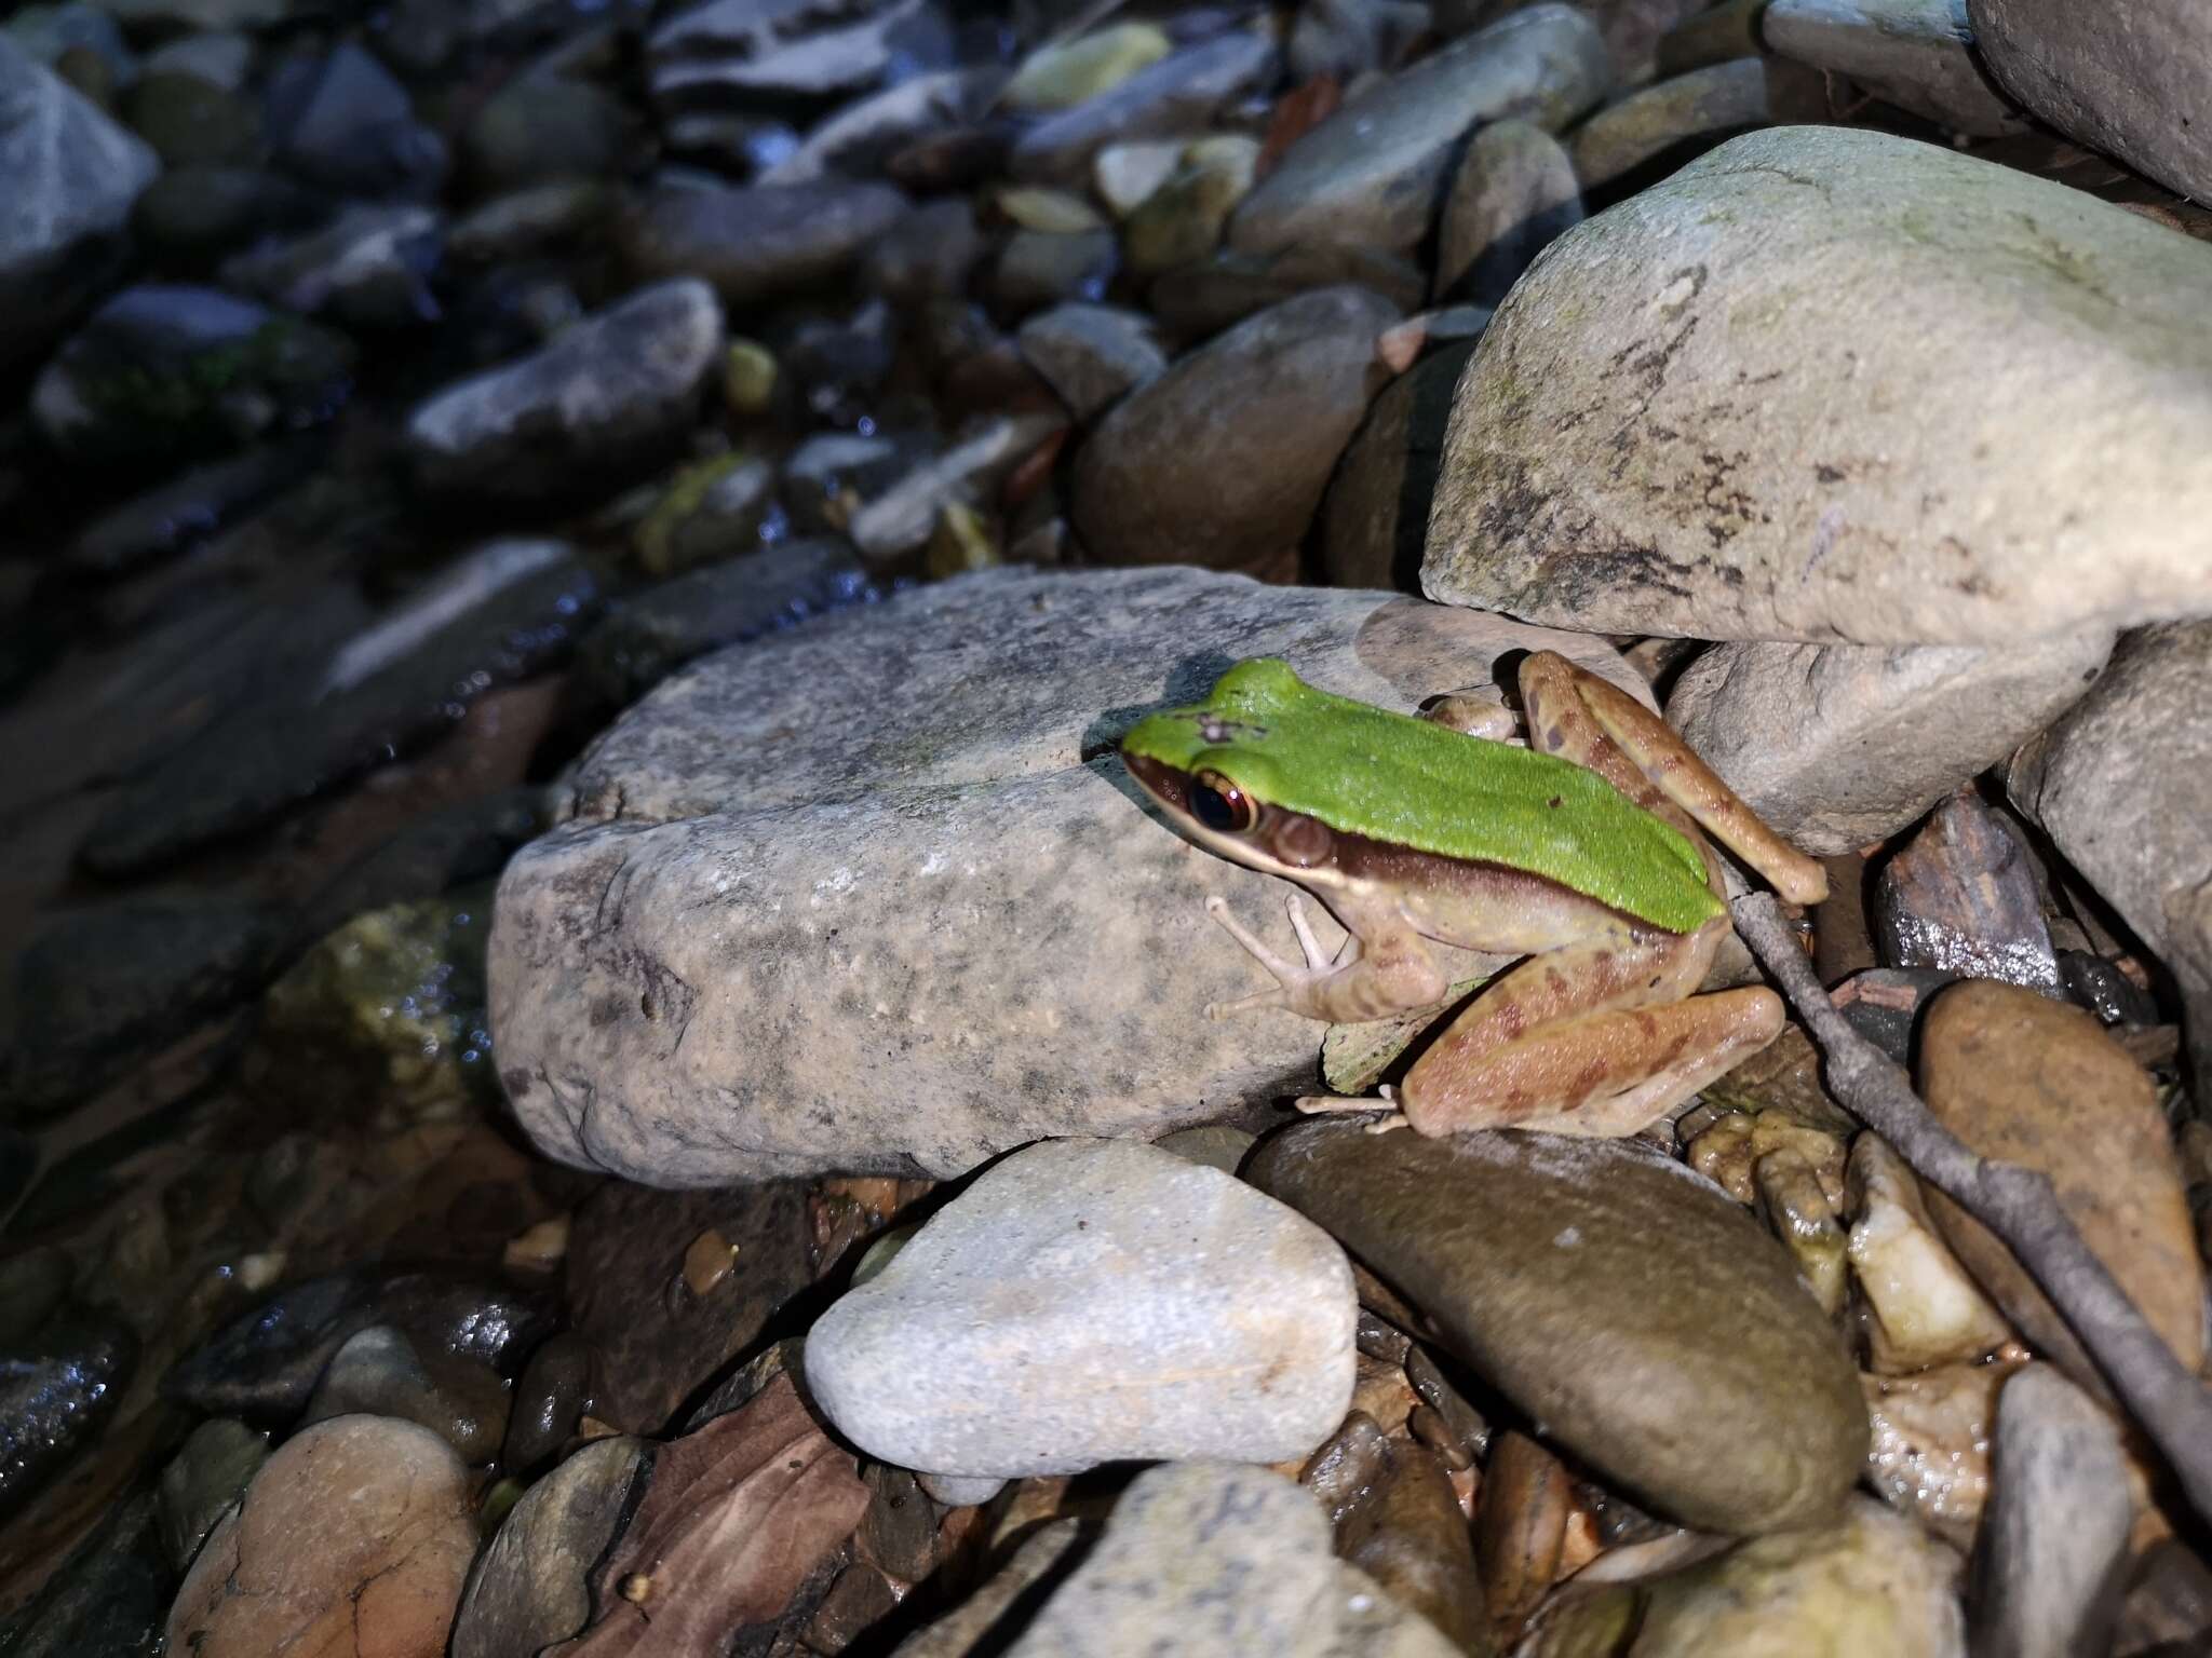
{"label": "blue-grey angular rock cut by the left edge, top-left corner", "polygon": [[42,351],[122,267],[153,148],[0,33],[0,367]]}

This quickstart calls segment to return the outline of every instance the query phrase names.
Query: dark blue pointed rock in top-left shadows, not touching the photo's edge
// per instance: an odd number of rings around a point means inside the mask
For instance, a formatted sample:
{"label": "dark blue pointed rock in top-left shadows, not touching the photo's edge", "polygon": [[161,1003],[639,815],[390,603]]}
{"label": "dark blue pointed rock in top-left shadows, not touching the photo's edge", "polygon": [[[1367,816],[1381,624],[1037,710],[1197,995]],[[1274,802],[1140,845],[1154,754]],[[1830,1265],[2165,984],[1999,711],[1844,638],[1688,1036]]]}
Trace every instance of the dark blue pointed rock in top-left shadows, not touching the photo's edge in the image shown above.
{"label": "dark blue pointed rock in top-left shadows, not touching the photo's edge", "polygon": [[338,195],[429,197],[445,141],[416,122],[407,88],[369,51],[341,44],[323,62],[285,64],[268,93],[276,159]]}

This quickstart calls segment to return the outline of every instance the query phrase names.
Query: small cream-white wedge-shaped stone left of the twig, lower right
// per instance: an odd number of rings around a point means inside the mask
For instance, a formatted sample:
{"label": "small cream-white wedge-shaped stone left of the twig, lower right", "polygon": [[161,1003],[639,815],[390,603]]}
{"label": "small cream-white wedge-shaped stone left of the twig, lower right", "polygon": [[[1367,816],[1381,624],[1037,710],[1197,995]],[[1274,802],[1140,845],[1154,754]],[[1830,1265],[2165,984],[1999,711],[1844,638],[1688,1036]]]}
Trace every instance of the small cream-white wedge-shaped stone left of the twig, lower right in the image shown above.
{"label": "small cream-white wedge-shaped stone left of the twig, lower right", "polygon": [[2004,1315],[1936,1234],[1905,1158],[1860,1134],[1849,1172],[1851,1271],[1867,1313],[1869,1368],[1909,1375],[1980,1360],[2011,1342]]}

